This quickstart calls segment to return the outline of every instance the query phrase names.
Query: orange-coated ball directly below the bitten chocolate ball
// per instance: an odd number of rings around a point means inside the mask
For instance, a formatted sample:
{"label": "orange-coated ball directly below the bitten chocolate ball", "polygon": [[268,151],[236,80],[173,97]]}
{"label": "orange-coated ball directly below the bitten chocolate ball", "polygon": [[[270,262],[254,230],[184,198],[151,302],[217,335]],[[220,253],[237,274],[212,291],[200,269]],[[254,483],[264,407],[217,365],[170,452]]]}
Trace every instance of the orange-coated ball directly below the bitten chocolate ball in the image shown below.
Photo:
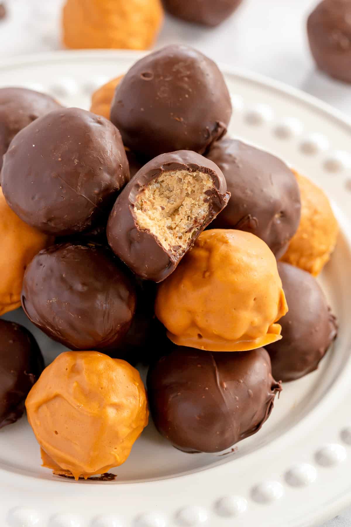
{"label": "orange-coated ball directly below the bitten chocolate ball", "polygon": [[203,232],[159,285],[155,313],[180,346],[239,352],[279,340],[287,305],[273,252],[249,232]]}

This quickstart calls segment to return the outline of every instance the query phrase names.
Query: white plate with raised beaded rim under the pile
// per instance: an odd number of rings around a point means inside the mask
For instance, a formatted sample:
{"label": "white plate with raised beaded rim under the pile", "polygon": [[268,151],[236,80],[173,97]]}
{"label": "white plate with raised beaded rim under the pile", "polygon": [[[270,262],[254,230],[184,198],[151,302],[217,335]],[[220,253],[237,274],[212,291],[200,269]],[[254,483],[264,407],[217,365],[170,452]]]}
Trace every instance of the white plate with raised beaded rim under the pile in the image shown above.
{"label": "white plate with raised beaded rim under the pile", "polygon": [[[56,52],[0,65],[0,85],[89,107],[95,87],[124,73],[134,52]],[[284,527],[314,525],[351,502],[351,126],[302,92],[222,66],[233,98],[229,132],[269,150],[322,186],[342,235],[320,278],[340,330],[317,372],[284,385],[272,416],[235,452],[175,450],[150,424],[114,482],[73,482],[40,466],[23,417],[0,432],[0,519],[10,527]],[[21,310],[47,362],[62,346]]]}

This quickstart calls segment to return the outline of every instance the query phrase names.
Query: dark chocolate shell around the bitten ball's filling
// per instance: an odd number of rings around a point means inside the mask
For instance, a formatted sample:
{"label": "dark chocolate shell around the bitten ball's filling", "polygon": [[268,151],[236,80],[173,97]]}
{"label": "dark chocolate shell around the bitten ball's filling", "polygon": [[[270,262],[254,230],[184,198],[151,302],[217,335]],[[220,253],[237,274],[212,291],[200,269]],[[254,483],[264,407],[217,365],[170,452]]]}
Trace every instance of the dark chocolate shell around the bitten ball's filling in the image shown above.
{"label": "dark chocolate shell around the bitten ball's filling", "polygon": [[[208,195],[210,207],[203,225],[198,226],[186,250],[175,255],[166,250],[149,230],[139,228],[134,210],[138,194],[145,187],[163,173],[177,170],[208,174],[214,182],[214,189]],[[146,163],[119,194],[107,222],[108,243],[137,276],[160,282],[174,271],[199,233],[226,206],[228,197],[224,176],[212,161],[186,150],[159,155]]]}

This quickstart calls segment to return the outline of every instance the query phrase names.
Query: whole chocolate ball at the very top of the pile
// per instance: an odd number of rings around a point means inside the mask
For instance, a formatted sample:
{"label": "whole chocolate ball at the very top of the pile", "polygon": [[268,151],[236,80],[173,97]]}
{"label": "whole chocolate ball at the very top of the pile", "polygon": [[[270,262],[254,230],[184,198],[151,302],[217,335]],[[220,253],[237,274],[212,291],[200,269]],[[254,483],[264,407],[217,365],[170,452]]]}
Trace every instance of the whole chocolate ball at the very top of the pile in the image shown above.
{"label": "whole chocolate ball at the very top of the pile", "polygon": [[148,159],[175,150],[204,153],[226,133],[231,115],[217,65],[184,45],[163,47],[136,62],[111,106],[125,146]]}

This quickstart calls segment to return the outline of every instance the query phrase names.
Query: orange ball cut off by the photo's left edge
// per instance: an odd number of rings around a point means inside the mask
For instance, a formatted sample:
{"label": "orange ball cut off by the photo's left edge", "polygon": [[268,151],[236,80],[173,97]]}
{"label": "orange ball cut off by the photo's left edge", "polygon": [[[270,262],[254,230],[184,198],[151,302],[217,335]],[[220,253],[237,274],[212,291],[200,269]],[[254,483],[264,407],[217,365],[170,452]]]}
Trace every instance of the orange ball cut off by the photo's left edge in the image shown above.
{"label": "orange ball cut off by the photo's left edge", "polygon": [[24,271],[32,258],[52,240],[18,218],[0,188],[0,315],[21,306]]}

